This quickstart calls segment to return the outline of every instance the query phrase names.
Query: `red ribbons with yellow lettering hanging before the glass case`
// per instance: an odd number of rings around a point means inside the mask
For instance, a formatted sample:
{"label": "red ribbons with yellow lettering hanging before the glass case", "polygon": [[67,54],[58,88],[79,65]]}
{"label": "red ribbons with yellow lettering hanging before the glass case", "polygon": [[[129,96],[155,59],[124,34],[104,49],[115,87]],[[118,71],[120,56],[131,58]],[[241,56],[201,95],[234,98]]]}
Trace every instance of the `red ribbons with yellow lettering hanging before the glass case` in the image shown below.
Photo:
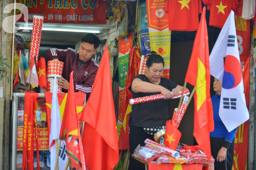
{"label": "red ribbons with yellow lettering hanging before the glass case", "polygon": [[34,124],[37,149],[37,170],[40,170],[36,117],[36,104],[38,97],[39,95],[33,91],[25,92],[22,170],[26,170],[26,166],[28,170],[32,170],[34,168]]}

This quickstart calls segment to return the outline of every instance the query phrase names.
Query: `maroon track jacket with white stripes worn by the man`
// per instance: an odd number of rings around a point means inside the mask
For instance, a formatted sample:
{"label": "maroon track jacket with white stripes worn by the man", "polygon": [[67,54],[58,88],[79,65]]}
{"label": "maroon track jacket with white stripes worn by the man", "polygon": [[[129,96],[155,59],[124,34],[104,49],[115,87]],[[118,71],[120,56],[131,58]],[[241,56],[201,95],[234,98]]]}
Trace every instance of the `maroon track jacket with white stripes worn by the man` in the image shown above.
{"label": "maroon track jacket with white stripes worn by the man", "polygon": [[[84,92],[86,94],[86,100],[88,100],[99,67],[95,59],[92,57],[89,61],[83,63],[78,70],[79,54],[78,51],[72,48],[68,48],[67,50],[51,48],[46,51],[45,56],[49,61],[59,59],[59,61],[64,63],[62,77],[67,81],[70,81],[69,75],[74,71],[74,90],[75,92]],[[62,92],[67,92],[67,90],[62,89]]]}

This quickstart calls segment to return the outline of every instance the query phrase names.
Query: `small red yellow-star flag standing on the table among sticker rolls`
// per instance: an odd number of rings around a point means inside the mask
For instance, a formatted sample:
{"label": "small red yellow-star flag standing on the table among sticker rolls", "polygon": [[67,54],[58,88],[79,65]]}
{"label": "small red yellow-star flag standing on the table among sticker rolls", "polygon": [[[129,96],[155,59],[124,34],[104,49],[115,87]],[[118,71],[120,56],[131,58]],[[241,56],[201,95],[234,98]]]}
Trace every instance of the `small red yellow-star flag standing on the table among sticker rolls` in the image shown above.
{"label": "small red yellow-star flag standing on the table among sticker rolls", "polygon": [[165,146],[176,150],[180,141],[180,137],[181,133],[177,129],[176,124],[173,125],[171,120],[166,121],[165,140],[163,141]]}

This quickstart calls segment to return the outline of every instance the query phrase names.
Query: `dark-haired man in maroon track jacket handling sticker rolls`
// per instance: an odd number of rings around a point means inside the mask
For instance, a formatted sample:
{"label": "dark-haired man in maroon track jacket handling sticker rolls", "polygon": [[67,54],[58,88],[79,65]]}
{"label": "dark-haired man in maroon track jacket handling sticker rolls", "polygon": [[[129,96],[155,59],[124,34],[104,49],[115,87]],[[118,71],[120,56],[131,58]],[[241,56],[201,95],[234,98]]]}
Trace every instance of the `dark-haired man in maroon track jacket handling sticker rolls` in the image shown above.
{"label": "dark-haired man in maroon track jacket handling sticker rolls", "polygon": [[69,89],[69,75],[74,71],[74,90],[82,91],[88,100],[98,70],[98,63],[92,57],[100,45],[100,39],[93,33],[81,37],[79,51],[51,48],[46,51],[48,60],[64,62],[62,78],[58,82],[63,92]]}

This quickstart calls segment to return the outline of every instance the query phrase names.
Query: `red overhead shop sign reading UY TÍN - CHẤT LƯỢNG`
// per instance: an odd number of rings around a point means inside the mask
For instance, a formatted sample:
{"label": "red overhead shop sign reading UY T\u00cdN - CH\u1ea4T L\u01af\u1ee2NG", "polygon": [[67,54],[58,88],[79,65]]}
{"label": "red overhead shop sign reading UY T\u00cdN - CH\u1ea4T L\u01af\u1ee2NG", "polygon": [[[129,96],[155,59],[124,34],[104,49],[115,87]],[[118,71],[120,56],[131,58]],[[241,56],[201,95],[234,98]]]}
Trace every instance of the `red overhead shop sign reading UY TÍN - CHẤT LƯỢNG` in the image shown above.
{"label": "red overhead shop sign reading UY T\u00cdN - CH\u1ea4T L\u01af\u1ee2NG", "polygon": [[[33,15],[40,15],[44,23],[106,24],[106,1],[98,3],[96,7],[96,0],[26,0],[25,5],[28,22],[33,22]],[[18,21],[22,22],[23,17]]]}

